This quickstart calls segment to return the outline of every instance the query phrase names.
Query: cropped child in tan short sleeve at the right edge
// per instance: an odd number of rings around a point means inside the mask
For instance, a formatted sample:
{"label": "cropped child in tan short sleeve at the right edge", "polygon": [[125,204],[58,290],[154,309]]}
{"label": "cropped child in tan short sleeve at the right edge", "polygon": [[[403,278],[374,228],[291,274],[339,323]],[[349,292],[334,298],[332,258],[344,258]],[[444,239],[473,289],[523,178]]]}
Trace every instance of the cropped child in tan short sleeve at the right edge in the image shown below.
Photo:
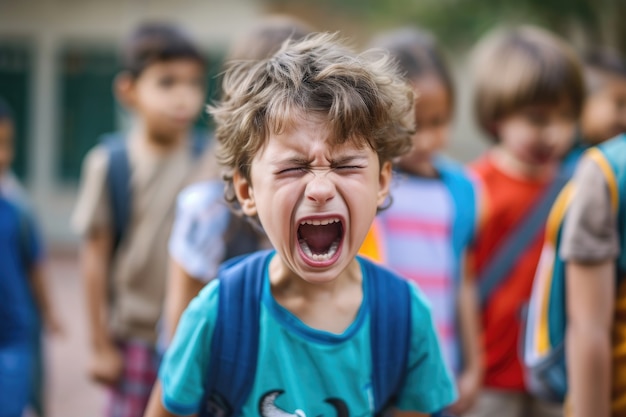
{"label": "cropped child in tan short sleeve at the right edge", "polygon": [[567,415],[626,415],[626,135],[587,152],[573,181],[567,262]]}

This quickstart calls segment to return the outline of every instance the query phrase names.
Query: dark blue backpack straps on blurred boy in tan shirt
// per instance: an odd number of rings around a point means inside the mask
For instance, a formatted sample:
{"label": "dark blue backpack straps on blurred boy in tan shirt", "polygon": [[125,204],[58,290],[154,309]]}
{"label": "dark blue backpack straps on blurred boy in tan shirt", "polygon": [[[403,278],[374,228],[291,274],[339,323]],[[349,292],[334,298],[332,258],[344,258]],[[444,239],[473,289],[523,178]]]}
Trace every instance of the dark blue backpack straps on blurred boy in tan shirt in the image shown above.
{"label": "dark blue backpack straps on blurred boy in tan shirt", "polygon": [[[121,132],[108,133],[102,136],[100,142],[106,149],[109,160],[106,183],[113,220],[113,252],[115,252],[128,229],[132,213],[131,167],[124,134]],[[202,132],[193,132],[190,140],[190,152],[194,159],[200,157],[206,142]]]}

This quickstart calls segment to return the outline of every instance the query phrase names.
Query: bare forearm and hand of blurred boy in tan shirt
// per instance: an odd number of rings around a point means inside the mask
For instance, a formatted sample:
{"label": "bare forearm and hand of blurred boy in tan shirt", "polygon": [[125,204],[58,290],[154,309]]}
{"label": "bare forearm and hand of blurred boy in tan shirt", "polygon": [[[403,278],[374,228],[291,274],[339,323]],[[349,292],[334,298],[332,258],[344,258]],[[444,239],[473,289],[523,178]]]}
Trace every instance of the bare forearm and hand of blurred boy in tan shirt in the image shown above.
{"label": "bare forearm and hand of blurred boy in tan shirt", "polygon": [[96,229],[85,238],[80,254],[91,343],[89,374],[103,384],[115,384],[123,366],[121,354],[107,326],[107,282],[112,250],[111,233]]}

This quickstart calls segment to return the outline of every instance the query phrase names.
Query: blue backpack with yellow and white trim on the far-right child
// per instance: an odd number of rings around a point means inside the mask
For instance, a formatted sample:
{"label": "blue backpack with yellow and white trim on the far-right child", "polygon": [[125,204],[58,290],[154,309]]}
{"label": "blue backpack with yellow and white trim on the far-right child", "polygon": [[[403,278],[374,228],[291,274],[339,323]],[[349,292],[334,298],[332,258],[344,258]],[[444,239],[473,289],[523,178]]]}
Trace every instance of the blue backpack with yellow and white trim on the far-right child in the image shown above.
{"label": "blue backpack with yellow and white trim on the far-right child", "polygon": [[[604,160],[599,149],[591,149],[587,155],[598,162],[598,157]],[[605,175],[613,175],[610,167],[603,171]],[[617,212],[617,189],[610,187],[610,192],[613,210]],[[522,337],[522,356],[529,392],[538,398],[558,403],[562,403],[567,394],[566,263],[559,256],[559,244],[563,221],[574,193],[575,183],[569,182],[550,212]]]}

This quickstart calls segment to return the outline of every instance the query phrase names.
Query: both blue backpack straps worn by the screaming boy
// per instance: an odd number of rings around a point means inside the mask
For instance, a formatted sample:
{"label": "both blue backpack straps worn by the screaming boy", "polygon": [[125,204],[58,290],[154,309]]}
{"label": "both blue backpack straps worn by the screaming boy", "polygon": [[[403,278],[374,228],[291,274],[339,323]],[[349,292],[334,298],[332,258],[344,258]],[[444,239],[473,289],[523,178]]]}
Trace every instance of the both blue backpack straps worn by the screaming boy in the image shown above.
{"label": "both blue backpack straps worn by the screaming boy", "polygon": [[[263,279],[274,251],[231,259],[218,274],[219,305],[199,417],[238,416],[252,390],[259,348]],[[384,415],[403,386],[411,338],[411,294],[406,281],[360,259],[370,297],[376,415]],[[392,307],[393,306],[393,307]]]}

